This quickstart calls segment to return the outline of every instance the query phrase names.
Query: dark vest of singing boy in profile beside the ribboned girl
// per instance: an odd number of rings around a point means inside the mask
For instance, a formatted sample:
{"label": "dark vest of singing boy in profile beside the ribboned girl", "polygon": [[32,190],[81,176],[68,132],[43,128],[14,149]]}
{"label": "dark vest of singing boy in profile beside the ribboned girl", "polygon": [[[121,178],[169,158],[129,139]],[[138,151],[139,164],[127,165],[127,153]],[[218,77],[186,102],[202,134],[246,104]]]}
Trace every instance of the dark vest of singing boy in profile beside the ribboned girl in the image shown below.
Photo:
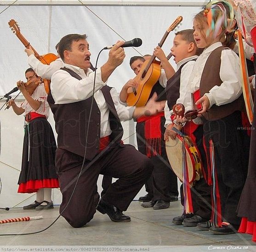
{"label": "dark vest of singing boy in profile beside the ribboned girl", "polygon": [[[196,61],[196,59],[193,59],[193,61]],[[170,110],[172,110],[173,105],[176,104],[177,99],[180,97],[182,67],[185,66],[188,62],[180,66],[178,71],[176,71],[176,73],[167,81],[165,93],[167,104]]]}

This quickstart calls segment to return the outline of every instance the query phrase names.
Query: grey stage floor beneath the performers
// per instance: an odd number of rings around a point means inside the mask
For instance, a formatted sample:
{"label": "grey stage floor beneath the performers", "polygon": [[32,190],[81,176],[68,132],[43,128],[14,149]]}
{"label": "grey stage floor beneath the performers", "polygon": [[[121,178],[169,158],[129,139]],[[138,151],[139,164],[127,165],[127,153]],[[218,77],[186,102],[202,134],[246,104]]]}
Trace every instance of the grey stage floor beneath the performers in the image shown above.
{"label": "grey stage floor beneath the performers", "polygon": [[[114,223],[107,214],[97,212],[94,219],[83,228],[72,228],[62,217],[48,230],[26,236],[0,236],[0,247],[3,246],[163,246],[164,251],[182,251],[183,246],[197,245],[208,251],[214,246],[250,246],[256,245],[250,235],[214,235],[193,227],[173,225],[171,220],[182,213],[180,201],[171,202],[164,210],[142,208],[138,201],[133,201],[126,214],[131,222]],[[43,219],[18,223],[0,224],[0,234],[28,233],[45,229],[58,216],[59,207],[45,211],[14,208],[0,210],[0,219],[43,215]],[[182,246],[182,247],[180,247]],[[178,249],[179,248],[179,249]],[[217,248],[215,248],[217,249]],[[214,249],[214,250],[215,250]],[[250,249],[250,248],[249,248]],[[256,249],[256,247],[255,247]],[[230,249],[233,250],[233,249]],[[0,251],[3,251],[0,249]],[[136,251],[136,250],[134,250]],[[149,250],[154,251],[154,250]],[[190,251],[191,250],[190,247]],[[223,250],[222,250],[223,251]],[[248,250],[247,250],[248,251]]]}

